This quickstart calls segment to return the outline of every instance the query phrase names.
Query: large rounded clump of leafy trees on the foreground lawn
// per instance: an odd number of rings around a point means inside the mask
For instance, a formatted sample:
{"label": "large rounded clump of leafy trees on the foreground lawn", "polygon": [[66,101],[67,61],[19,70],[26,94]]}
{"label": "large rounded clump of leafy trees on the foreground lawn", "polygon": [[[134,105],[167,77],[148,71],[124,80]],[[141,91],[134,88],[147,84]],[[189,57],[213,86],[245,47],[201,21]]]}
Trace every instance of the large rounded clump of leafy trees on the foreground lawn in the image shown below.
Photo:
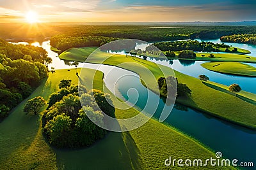
{"label": "large rounded clump of leafy trees on the foreground lawn", "polygon": [[104,138],[107,132],[95,125],[90,118],[105,124],[102,111],[115,117],[110,96],[100,90],[87,92],[83,86],[63,87],[63,82],[69,81],[61,81],[61,89],[49,97],[49,106],[42,116],[43,132],[51,145],[60,148],[90,146]]}

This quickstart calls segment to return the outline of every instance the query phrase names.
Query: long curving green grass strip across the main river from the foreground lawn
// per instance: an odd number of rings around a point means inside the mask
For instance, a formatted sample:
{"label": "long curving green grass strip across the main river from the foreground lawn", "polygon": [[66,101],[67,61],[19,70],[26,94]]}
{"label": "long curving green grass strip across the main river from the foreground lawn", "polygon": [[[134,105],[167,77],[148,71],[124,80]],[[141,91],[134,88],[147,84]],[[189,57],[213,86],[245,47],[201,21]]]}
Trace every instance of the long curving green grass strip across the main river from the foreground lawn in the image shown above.
{"label": "long curving green grass strip across the main river from the foreground lawn", "polygon": [[[169,67],[157,65],[147,60],[104,52],[95,53],[95,55],[92,58],[87,59],[86,62],[101,63],[102,60],[104,60],[103,64],[111,66],[122,64],[122,66],[118,67],[133,71],[139,74],[142,80],[148,80],[148,82],[156,81],[160,76],[163,76],[163,73],[161,73],[159,69],[160,67],[163,70],[170,71]],[[134,63],[137,63],[138,65]],[[154,74],[154,77],[150,76],[150,74],[145,71],[145,67]],[[196,110],[204,111],[215,117],[256,129],[255,105],[238,99],[235,96],[230,96],[224,92],[207,87],[197,78],[187,76],[186,74],[177,71],[175,71],[175,75],[180,83],[187,84],[189,89],[192,90],[191,97],[179,98],[177,99],[177,102],[195,108]],[[152,86],[151,84],[148,84],[147,87],[153,91],[158,89],[157,85]],[[209,105],[209,103],[211,103],[211,105]]]}

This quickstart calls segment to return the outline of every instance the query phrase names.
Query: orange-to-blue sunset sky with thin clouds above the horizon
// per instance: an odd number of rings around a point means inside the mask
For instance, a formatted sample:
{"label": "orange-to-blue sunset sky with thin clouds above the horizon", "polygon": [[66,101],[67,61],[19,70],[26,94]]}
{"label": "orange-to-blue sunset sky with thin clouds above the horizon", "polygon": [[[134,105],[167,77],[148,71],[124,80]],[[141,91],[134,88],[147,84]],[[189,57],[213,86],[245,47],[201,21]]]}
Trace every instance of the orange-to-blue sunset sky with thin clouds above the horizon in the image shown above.
{"label": "orange-to-blue sunset sky with thin clouds above the horizon", "polygon": [[255,9],[256,0],[0,0],[0,22],[28,22],[29,11],[38,22],[250,21]]}

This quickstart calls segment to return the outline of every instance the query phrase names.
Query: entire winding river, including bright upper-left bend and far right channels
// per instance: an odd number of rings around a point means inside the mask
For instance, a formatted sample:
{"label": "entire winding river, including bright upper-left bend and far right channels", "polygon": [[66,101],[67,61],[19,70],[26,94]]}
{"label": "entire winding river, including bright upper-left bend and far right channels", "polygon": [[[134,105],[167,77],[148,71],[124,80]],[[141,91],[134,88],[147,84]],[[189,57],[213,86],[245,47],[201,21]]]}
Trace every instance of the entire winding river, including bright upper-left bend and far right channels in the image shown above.
{"label": "entire winding river, including bright upper-left bend and far right channels", "polygon": [[[220,39],[218,40],[209,40],[214,43],[220,43]],[[246,48],[252,52],[253,57],[256,57],[256,46],[249,46],[249,45],[242,45],[242,44],[235,44],[235,43],[227,43],[228,45],[237,46],[239,48]],[[55,69],[63,69],[63,68],[70,68],[74,66],[66,66],[64,62],[58,59],[57,54],[51,52],[49,41],[45,41],[42,44],[33,43],[35,46],[42,46],[45,50],[47,50],[49,57],[52,58],[53,62],[49,66],[49,68],[54,67]],[[157,62],[159,64],[163,64],[166,66],[172,65],[173,69],[180,71],[181,73],[188,74],[190,76],[198,77],[199,74],[206,74],[210,77],[212,81],[216,81],[218,83],[222,83],[225,85],[230,85],[232,83],[239,83],[243,90],[248,92],[253,92],[256,94],[256,78],[248,78],[248,77],[241,77],[241,76],[230,76],[227,74],[220,74],[215,73],[212,71],[208,71],[200,66],[200,64],[204,62],[180,62],[179,60],[173,60],[173,62],[169,62],[166,60],[154,60],[154,59],[147,59],[153,62]],[[79,64],[79,67],[83,67],[84,64]],[[90,68],[97,68],[97,64],[86,64],[86,67]],[[252,64],[252,66],[256,66]],[[116,87],[118,88],[118,97],[125,98],[129,100],[127,94],[129,94],[129,89],[136,89],[140,92],[140,96],[145,96],[145,93],[148,90],[141,85],[140,78],[138,76],[126,76],[125,78],[118,80],[118,74],[120,73],[127,73],[126,70],[120,69],[113,66],[100,66],[100,71],[104,72],[105,75],[108,75],[108,72],[111,69],[116,70],[116,76],[108,79],[108,76],[105,76],[104,82],[106,87],[109,90],[113,89],[113,82],[116,83]],[[128,71],[131,72],[131,71]],[[118,74],[117,74],[118,73]],[[134,74],[131,72],[131,74]],[[113,79],[114,77],[114,79]],[[128,83],[128,82],[131,82]],[[112,90],[113,92],[113,90]],[[149,91],[148,94],[150,97],[155,97],[156,100],[159,100],[159,97],[154,94],[153,92]],[[143,99],[138,99],[138,102],[134,103],[139,108],[144,108],[145,103]],[[132,101],[131,101],[132,103]],[[163,110],[164,101],[160,99],[159,106],[157,108],[156,113],[154,114],[155,118],[159,118],[161,114],[161,110]],[[180,109],[182,108],[182,109]],[[148,110],[148,112],[150,112]],[[184,106],[176,106],[173,108],[172,113],[169,117],[165,120],[166,124],[170,124],[173,127],[176,127],[180,131],[188,134],[189,136],[193,136],[193,138],[197,139],[205,146],[209,146],[212,150],[216,152],[222,152],[223,156],[228,159],[238,159],[239,161],[245,162],[254,162],[256,164],[256,148],[255,148],[255,141],[256,141],[256,131],[252,131],[250,129],[246,129],[239,125],[230,124],[224,120],[220,120],[219,118],[211,117],[205,113],[200,113],[198,111],[192,110],[190,108],[186,108]],[[182,146],[181,146],[182,147]],[[196,154],[196,153],[195,153]],[[65,160],[70,161],[70,160]],[[65,164],[65,162],[61,162],[61,164]],[[69,163],[70,164],[70,163]]]}

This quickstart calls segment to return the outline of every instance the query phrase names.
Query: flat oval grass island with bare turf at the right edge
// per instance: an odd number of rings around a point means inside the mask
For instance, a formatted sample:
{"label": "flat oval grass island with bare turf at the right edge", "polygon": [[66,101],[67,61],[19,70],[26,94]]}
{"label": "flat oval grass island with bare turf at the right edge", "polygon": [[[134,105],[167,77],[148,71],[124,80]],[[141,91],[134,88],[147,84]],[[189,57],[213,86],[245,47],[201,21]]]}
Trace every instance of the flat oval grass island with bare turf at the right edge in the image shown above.
{"label": "flat oval grass island with bare turf at the right edge", "polygon": [[239,62],[207,62],[201,64],[205,69],[218,73],[236,74],[240,76],[256,76],[256,68]]}

